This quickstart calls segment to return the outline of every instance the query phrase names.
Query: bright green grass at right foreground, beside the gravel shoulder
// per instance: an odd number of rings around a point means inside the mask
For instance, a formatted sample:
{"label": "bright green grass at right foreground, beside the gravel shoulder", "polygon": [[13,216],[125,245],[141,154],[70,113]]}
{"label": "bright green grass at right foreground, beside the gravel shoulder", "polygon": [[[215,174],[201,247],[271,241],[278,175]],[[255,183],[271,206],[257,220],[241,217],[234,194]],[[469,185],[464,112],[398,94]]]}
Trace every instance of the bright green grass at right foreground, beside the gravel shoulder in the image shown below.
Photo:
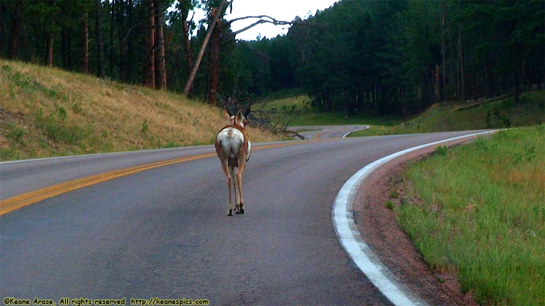
{"label": "bright green grass at right foreground, beside the gravel shoulder", "polygon": [[396,218],[429,266],[481,304],[545,304],[543,124],[441,147],[404,182]]}

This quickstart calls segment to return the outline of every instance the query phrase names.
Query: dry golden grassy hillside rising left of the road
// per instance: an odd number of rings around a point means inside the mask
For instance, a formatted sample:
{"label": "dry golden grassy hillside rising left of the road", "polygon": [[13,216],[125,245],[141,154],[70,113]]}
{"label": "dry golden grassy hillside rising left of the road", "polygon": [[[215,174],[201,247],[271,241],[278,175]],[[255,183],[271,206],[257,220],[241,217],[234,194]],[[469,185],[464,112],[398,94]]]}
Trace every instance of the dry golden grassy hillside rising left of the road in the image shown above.
{"label": "dry golden grassy hillside rising left of the road", "polygon": [[211,144],[225,124],[220,109],[178,94],[8,60],[0,72],[2,160]]}

